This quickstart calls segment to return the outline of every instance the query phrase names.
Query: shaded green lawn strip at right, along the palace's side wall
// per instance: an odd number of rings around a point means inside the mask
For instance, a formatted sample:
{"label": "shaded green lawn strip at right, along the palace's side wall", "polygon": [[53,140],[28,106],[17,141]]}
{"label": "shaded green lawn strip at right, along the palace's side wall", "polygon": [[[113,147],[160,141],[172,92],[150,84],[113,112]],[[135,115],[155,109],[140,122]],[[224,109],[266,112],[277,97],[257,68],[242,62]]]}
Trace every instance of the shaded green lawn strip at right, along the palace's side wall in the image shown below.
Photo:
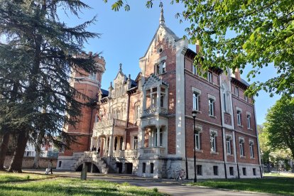
{"label": "shaded green lawn strip at right, along the palace's side wall", "polygon": [[285,177],[263,179],[207,180],[205,182],[191,184],[232,190],[266,192],[279,195],[294,195],[294,178]]}

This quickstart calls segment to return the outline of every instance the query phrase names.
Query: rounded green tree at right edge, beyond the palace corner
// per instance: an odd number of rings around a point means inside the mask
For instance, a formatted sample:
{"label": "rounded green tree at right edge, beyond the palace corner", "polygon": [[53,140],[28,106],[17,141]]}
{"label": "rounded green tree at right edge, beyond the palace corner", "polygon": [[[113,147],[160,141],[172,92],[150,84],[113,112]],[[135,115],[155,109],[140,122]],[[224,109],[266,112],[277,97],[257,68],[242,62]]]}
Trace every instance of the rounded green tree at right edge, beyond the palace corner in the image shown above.
{"label": "rounded green tree at right edge, beyond the palace corner", "polygon": [[268,110],[264,129],[268,134],[268,146],[273,150],[290,149],[294,158],[294,98],[283,95]]}

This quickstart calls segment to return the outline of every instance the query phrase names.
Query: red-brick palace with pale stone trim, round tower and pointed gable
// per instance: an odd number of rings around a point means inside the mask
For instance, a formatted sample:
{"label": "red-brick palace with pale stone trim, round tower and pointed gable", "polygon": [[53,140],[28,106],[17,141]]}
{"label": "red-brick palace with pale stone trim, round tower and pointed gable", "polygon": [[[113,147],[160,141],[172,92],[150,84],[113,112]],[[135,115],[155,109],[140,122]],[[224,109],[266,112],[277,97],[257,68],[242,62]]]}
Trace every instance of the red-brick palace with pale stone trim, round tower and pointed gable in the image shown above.
{"label": "red-brick palace with pale stone trim, round tower and pointed gable", "polygon": [[109,88],[100,89],[105,61],[99,57],[97,75],[76,74],[84,80],[72,85],[93,99],[98,94],[97,102],[82,109],[77,126],[66,128],[80,143],[60,153],[57,168],[80,170],[86,163],[93,172],[152,178],[183,169],[192,179],[195,153],[199,179],[261,178],[256,111],[244,94],[249,84],[239,70],[226,75],[212,68],[207,77],[197,75],[195,55],[165,25],[161,10],[136,78],[119,65]]}

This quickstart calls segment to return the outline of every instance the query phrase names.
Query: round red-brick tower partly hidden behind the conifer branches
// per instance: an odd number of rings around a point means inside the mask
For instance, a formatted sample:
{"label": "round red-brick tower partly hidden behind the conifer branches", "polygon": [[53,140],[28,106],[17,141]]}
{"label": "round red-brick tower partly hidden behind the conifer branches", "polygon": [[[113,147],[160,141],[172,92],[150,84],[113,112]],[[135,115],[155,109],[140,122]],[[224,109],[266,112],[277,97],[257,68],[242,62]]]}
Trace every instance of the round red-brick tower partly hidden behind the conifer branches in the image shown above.
{"label": "round red-brick tower partly hidden behind the conifer branches", "polygon": [[[92,52],[86,55],[93,55]],[[72,153],[84,152],[90,150],[91,136],[93,125],[95,121],[95,114],[97,113],[96,104],[98,98],[98,92],[101,87],[102,75],[105,71],[105,60],[103,57],[94,54],[95,65],[98,68],[96,74],[90,74],[85,70],[77,70],[72,72],[71,85],[80,94],[77,94],[77,98],[80,102],[89,102],[86,97],[89,97],[92,101],[89,107],[82,106],[79,122],[76,126],[68,125],[65,127],[65,131],[69,134],[77,136],[78,143],[70,144],[70,150],[65,150],[60,153],[60,156],[72,156]]]}

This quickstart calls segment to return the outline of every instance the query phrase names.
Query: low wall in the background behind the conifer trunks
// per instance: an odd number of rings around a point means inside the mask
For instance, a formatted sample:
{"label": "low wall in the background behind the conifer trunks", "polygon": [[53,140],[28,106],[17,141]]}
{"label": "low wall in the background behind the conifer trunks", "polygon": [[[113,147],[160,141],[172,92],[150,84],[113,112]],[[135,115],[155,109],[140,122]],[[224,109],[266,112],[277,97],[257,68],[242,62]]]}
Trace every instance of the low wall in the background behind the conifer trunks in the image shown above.
{"label": "low wall in the background behind the conifer trunks", "polygon": [[[9,168],[9,165],[11,163],[12,156],[6,156],[4,166],[6,168]],[[23,165],[22,168],[33,168],[33,157],[23,157]],[[48,164],[50,163],[50,160],[53,160],[53,168],[56,168],[57,164],[57,158],[45,158],[40,157],[39,160],[39,167],[40,168],[48,168]]]}

